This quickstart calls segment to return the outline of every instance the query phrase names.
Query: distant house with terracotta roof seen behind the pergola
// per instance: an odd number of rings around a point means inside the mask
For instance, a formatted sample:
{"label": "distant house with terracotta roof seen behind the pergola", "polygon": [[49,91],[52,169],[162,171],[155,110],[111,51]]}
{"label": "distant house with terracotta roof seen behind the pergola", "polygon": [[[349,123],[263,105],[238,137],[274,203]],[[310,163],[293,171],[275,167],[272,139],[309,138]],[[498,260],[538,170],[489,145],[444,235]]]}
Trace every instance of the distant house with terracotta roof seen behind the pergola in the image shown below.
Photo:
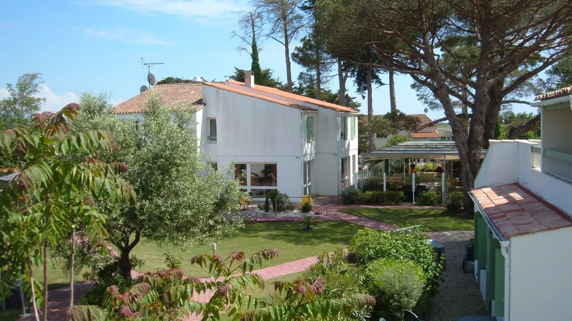
{"label": "distant house with terracotta roof seen behind the pergola", "polygon": [[[426,114],[412,114],[408,115],[410,117],[415,117],[419,120],[419,126],[423,126],[427,123],[432,122],[431,118],[427,117]],[[374,117],[383,117],[383,115],[374,115]],[[367,123],[367,116],[362,116],[362,121]],[[407,136],[411,138],[414,142],[424,142],[424,141],[451,141],[452,131],[443,126],[428,126],[418,132],[412,132],[407,130],[402,130],[398,132],[399,135]],[[380,135],[378,133],[374,134],[375,149],[382,149],[387,143],[387,139],[391,138],[393,135]]]}

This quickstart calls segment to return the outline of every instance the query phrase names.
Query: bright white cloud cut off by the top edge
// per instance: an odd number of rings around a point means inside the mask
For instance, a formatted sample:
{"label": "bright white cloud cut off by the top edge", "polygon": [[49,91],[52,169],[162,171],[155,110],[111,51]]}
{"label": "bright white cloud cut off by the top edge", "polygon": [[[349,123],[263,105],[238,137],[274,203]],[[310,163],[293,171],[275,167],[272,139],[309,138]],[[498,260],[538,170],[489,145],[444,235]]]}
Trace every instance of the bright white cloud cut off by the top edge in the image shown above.
{"label": "bright white cloud cut off by the top edge", "polygon": [[121,7],[142,13],[165,13],[184,17],[216,18],[247,9],[238,0],[93,0],[100,5]]}

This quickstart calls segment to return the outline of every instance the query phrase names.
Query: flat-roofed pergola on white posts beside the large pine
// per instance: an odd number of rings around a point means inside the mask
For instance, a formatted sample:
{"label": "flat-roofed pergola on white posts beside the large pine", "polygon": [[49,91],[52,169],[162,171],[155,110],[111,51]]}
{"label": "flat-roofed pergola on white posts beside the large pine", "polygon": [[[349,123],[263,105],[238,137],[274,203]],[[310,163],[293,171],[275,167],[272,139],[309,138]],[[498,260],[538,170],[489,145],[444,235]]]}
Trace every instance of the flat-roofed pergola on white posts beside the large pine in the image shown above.
{"label": "flat-roofed pergola on white posts beside the large pine", "polygon": [[[480,153],[480,157],[484,158],[486,155],[487,150],[482,150]],[[380,150],[372,151],[371,153],[362,153],[362,157],[360,161],[362,162],[362,175],[363,175],[363,163],[368,162],[369,160],[383,160],[383,190],[387,190],[387,182],[386,182],[386,166],[385,161],[386,159],[406,159],[406,158],[413,158],[413,159],[435,159],[435,160],[443,160],[443,173],[446,173],[445,163],[447,160],[456,160],[459,159],[459,151],[456,149],[455,142],[450,141],[433,141],[433,142],[404,142],[399,143],[398,145],[385,147]],[[404,166],[404,174],[405,174],[405,164]],[[442,175],[442,194],[443,194],[443,203],[445,202],[445,176]],[[362,191],[363,191],[363,179],[365,177],[362,176]],[[412,175],[412,191],[414,195],[414,202],[415,202],[415,175]]]}

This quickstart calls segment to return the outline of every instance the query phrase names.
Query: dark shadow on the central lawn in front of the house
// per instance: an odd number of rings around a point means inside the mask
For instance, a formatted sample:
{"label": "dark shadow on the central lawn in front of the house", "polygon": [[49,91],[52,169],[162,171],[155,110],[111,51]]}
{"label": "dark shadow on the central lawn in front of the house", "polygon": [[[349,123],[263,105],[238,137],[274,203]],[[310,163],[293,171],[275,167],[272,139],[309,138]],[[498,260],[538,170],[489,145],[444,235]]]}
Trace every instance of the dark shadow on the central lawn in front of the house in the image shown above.
{"label": "dark shadow on the central lawn in front of the house", "polygon": [[324,243],[349,244],[352,236],[364,228],[343,220],[320,220],[313,231],[303,231],[304,225],[300,222],[258,223],[253,227],[259,230],[256,234],[259,238],[310,246]]}

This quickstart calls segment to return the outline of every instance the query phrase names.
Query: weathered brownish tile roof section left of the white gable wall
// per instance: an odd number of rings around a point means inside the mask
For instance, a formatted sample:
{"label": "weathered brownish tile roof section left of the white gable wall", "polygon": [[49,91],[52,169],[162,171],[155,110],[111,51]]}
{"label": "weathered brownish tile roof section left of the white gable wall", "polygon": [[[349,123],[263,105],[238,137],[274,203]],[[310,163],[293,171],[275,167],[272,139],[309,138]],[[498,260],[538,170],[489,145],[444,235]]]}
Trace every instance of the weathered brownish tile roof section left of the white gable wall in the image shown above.
{"label": "weathered brownish tile roof section left of the white gable wall", "polygon": [[177,103],[182,105],[194,104],[202,108],[202,82],[192,83],[166,83],[155,85],[135,97],[118,104],[112,109],[113,114],[142,113],[148,99],[157,93],[161,96],[165,106],[173,106]]}

